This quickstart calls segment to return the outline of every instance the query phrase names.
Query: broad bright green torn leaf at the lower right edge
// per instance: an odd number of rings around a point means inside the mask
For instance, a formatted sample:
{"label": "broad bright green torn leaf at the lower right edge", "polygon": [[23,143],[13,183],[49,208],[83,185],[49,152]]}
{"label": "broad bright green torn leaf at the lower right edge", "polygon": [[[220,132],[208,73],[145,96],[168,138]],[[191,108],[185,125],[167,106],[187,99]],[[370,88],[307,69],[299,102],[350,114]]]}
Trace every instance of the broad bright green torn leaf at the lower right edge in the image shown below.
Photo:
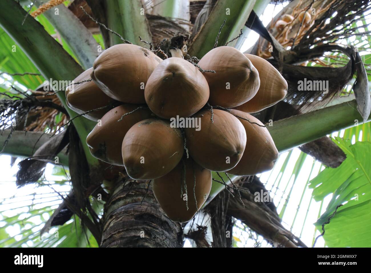
{"label": "broad bright green torn leaf at the lower right edge", "polygon": [[347,159],[336,169],[326,168],[311,181],[309,187],[316,201],[332,194],[325,213],[315,225],[321,230],[322,224],[328,222],[338,208],[330,223],[325,225],[326,244],[329,247],[370,247],[371,143],[351,144],[339,137],[335,140]]}

